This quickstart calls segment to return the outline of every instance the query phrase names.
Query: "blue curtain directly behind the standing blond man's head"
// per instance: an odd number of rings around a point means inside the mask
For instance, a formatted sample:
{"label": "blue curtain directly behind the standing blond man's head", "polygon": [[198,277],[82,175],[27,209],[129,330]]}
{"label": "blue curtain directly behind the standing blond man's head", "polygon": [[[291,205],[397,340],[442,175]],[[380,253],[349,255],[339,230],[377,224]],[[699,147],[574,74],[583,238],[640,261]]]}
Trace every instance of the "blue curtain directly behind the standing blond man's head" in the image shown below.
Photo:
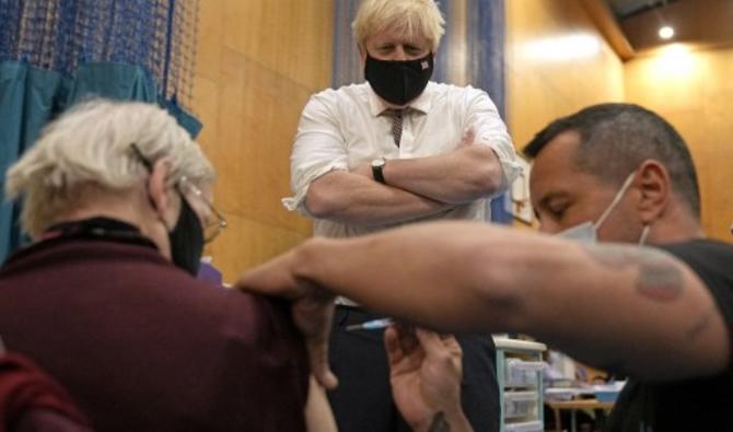
{"label": "blue curtain directly behind the standing blond man's head", "polygon": [[[334,0],[333,86],[362,82],[351,22],[360,0]],[[473,85],[489,93],[504,117],[504,0],[441,0],[446,34],[433,80]],[[509,192],[490,202],[491,220],[511,223]]]}

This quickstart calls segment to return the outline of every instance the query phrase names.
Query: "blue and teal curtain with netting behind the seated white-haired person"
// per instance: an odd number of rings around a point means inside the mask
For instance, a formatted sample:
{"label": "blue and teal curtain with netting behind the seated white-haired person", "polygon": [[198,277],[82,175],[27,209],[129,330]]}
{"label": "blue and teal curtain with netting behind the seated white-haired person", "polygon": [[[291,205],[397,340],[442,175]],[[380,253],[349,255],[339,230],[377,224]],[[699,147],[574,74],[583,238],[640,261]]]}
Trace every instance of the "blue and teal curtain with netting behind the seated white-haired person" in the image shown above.
{"label": "blue and teal curtain with netting behind the seated white-haired person", "polygon": [[197,0],[0,0],[0,260],[23,243],[5,172],[40,129],[90,97],[168,109],[191,136]]}

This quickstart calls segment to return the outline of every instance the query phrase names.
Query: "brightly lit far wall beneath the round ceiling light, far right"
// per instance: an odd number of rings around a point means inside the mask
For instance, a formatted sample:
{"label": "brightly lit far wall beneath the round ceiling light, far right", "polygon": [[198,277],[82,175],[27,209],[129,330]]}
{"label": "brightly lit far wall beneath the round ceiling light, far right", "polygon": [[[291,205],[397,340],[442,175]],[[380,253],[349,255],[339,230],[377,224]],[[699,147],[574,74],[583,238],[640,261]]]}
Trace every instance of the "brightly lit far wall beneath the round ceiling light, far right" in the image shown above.
{"label": "brightly lit far wall beneath the round ceiling light, far right", "polygon": [[702,227],[731,241],[733,47],[672,46],[626,63],[626,100],[660,113],[687,141],[700,182]]}

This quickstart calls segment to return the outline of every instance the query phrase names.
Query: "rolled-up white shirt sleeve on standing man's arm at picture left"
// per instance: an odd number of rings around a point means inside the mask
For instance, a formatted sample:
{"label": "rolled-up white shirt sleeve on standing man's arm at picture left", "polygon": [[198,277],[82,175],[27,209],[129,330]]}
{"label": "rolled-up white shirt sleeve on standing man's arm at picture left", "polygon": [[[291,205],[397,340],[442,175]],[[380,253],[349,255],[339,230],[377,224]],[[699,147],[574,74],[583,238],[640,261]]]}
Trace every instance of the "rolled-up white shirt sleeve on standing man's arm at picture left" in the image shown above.
{"label": "rolled-up white shirt sleeve on standing man's arm at picture left", "polygon": [[318,94],[303,108],[290,155],[293,196],[282,198],[282,205],[290,211],[309,215],[305,196],[311,183],[334,170],[349,168],[346,144],[334,112],[336,107],[329,105]]}

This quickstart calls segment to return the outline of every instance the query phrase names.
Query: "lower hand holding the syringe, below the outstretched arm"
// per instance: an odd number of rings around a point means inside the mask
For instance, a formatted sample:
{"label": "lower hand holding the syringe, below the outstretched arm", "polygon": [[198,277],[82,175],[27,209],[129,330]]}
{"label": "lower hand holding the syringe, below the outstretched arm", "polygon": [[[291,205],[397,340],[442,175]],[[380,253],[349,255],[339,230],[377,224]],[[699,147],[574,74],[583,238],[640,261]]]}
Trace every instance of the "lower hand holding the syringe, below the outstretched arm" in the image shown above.
{"label": "lower hand holding the syringe, below the outstretched arm", "polygon": [[463,353],[455,338],[392,326],[384,343],[393,398],[410,427],[433,430],[440,421],[454,431],[470,430],[461,408]]}

